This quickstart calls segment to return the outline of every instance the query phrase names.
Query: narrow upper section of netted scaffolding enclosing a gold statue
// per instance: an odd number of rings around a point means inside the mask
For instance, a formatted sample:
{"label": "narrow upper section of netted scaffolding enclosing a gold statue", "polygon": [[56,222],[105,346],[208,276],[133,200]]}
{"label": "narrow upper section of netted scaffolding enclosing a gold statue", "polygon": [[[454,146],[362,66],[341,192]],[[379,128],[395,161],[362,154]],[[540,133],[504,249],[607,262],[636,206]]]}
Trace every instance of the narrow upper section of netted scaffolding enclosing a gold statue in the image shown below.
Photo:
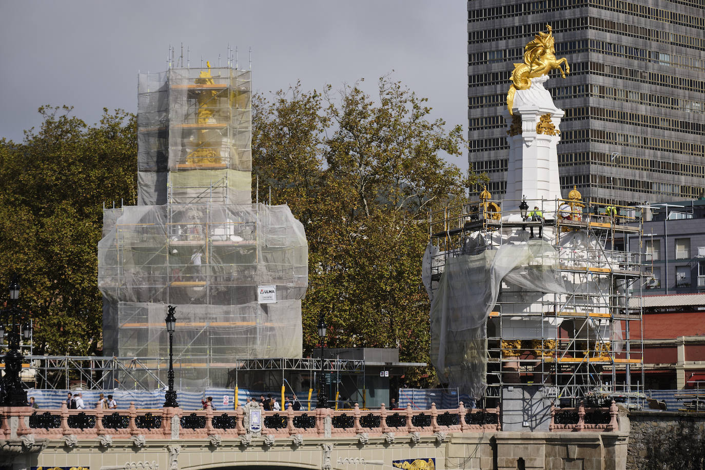
{"label": "narrow upper section of netted scaffolding enclosing a gold statue", "polygon": [[251,201],[250,71],[170,68],[137,85],[138,204]]}

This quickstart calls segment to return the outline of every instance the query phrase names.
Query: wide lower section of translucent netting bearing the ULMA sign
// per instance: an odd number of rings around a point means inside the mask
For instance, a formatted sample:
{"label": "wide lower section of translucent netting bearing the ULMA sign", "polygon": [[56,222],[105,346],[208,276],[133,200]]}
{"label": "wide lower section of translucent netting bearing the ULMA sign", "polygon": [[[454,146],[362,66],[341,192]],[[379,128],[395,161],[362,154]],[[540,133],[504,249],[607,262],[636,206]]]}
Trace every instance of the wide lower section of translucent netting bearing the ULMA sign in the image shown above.
{"label": "wide lower section of translucent netting bearing the ULMA sign", "polygon": [[[104,333],[120,355],[164,353],[172,304],[179,354],[301,356],[308,245],[288,206],[124,207],[98,256],[99,288],[117,316]],[[276,286],[276,304],[259,304],[262,285]]]}

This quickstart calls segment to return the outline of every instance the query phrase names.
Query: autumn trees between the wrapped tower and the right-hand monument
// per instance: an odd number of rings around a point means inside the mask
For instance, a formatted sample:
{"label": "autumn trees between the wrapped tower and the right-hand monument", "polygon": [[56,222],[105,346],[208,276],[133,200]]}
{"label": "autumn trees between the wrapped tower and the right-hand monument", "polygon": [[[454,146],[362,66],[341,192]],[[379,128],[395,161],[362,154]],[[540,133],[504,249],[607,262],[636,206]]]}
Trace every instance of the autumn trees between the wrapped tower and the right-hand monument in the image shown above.
{"label": "autumn trees between the wrapped tower and the right-hand monument", "polygon": [[297,85],[254,107],[259,198],[271,187],[309,242],[305,349],[324,314],[329,347],[399,347],[400,360],[428,362],[427,214],[474,182],[442,158],[462,156],[462,128],[429,121],[427,100],[386,77],[376,101],[357,85],[337,97]]}

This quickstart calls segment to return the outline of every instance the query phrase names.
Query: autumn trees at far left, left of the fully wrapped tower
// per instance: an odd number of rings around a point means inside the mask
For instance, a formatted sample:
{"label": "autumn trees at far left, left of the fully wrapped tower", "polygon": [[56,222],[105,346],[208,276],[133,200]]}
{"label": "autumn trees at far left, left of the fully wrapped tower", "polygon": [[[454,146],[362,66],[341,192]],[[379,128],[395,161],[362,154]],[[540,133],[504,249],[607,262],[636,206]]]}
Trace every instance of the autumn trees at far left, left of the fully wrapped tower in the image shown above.
{"label": "autumn trees at far left, left of the fully wrapped tower", "polygon": [[20,308],[35,321],[37,354],[99,347],[97,243],[106,201],[136,201],[135,116],[116,110],[89,126],[63,106],[22,144],[0,140],[0,280],[20,276]]}

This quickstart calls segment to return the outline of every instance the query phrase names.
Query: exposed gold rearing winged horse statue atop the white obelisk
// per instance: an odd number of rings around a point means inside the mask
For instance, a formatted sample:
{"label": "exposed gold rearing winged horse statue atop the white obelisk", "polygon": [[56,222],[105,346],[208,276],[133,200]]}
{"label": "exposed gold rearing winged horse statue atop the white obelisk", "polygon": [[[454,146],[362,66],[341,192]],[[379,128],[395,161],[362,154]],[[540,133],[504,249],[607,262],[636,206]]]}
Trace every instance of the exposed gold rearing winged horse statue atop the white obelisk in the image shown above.
{"label": "exposed gold rearing winged horse statue atop the white obelisk", "polygon": [[[524,48],[524,63],[515,63],[512,73],[512,85],[507,92],[507,108],[513,114],[514,94],[517,89],[529,89],[531,79],[548,75],[554,68],[560,70],[560,76],[565,78],[566,73],[570,73],[568,59],[565,57],[556,58],[556,49],[550,25],[546,25],[548,33],[539,32],[534,40],[529,42]],[[560,68],[560,64],[565,64],[565,71]]]}

